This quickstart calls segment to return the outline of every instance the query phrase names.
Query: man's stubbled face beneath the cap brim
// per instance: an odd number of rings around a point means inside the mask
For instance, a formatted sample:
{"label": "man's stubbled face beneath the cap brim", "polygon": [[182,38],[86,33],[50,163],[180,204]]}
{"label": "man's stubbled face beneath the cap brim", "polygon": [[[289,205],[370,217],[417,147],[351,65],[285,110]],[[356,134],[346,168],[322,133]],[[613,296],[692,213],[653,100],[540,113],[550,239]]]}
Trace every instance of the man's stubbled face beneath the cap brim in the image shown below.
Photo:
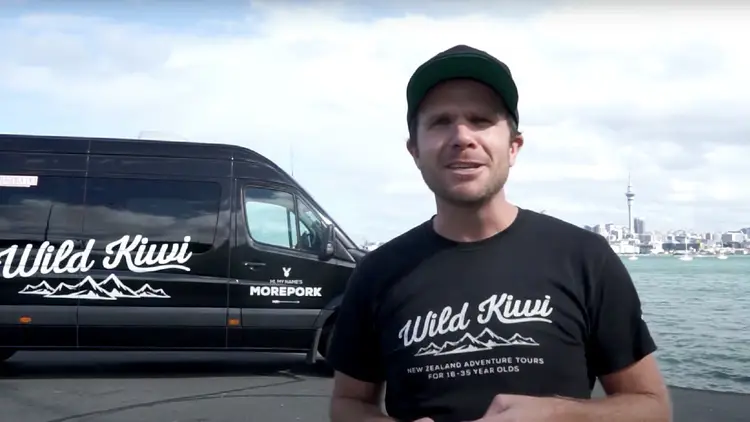
{"label": "man's stubbled face beneath the cap brim", "polygon": [[424,99],[410,152],[438,198],[473,207],[502,190],[523,138],[512,138],[501,104],[470,80],[444,82]]}

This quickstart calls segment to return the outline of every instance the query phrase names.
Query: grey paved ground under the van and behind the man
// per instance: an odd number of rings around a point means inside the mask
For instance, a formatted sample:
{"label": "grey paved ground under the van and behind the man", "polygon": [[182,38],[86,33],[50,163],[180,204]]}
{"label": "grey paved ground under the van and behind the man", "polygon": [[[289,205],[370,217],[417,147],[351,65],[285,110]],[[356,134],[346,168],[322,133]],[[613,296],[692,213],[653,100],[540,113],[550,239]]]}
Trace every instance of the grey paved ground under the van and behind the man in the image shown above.
{"label": "grey paved ground under the van and behind the man", "polygon": [[[326,422],[329,373],[300,356],[19,353],[0,372],[0,420]],[[748,422],[750,396],[674,389],[675,422]]]}

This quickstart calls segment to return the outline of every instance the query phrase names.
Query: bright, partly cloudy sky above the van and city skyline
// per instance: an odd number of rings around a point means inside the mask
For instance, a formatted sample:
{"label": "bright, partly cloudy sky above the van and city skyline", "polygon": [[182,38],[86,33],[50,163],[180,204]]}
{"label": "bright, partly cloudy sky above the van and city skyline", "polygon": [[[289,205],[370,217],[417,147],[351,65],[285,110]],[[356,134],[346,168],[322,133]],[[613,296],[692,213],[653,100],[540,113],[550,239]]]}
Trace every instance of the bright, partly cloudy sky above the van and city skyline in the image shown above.
{"label": "bright, partly cloudy sky above the van and city skyline", "polygon": [[385,241],[435,211],[407,81],[468,44],[519,87],[515,204],[627,225],[630,172],[647,230],[750,226],[750,6],[523,3],[0,0],[0,132],[245,146]]}

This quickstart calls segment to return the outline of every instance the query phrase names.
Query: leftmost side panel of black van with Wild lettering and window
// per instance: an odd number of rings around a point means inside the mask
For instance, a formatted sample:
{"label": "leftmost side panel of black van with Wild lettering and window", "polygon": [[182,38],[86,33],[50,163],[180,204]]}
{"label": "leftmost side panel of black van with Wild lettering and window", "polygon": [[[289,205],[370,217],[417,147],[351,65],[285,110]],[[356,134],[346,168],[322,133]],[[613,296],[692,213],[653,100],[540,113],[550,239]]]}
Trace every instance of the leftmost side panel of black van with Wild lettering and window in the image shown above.
{"label": "leftmost side panel of black van with Wild lettering and window", "polygon": [[83,154],[0,152],[0,347],[77,345],[79,299],[65,291],[90,265],[85,163]]}

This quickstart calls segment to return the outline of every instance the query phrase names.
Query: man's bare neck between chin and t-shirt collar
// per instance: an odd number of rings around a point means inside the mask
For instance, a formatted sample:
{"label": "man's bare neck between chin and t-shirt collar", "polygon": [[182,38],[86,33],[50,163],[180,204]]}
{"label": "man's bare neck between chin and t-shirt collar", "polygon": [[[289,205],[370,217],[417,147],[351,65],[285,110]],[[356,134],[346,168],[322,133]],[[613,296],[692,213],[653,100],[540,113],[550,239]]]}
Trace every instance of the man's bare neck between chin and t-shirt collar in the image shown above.
{"label": "man's bare neck between chin and t-shirt collar", "polygon": [[505,230],[518,216],[518,207],[498,194],[478,208],[460,207],[437,200],[434,230],[456,242],[476,242]]}

